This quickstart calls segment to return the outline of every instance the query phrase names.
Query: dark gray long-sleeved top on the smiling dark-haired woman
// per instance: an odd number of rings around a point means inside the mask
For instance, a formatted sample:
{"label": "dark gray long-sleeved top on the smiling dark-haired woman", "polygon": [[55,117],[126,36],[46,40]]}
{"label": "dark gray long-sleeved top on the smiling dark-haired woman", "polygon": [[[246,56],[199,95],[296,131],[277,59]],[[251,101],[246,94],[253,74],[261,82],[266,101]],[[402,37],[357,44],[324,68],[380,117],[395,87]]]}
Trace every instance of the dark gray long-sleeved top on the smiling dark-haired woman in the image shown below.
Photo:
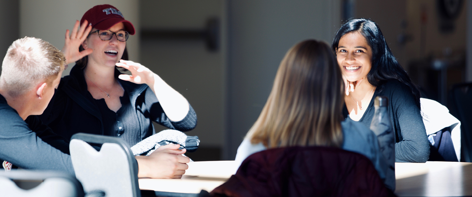
{"label": "dark gray long-sleeved top on the smiling dark-haired woman", "polygon": [[[421,112],[416,106],[411,90],[405,84],[390,80],[380,85],[358,122],[370,128],[375,112],[373,98],[377,96],[388,98],[388,115],[395,131],[395,161],[417,163],[428,161],[430,143],[426,136]],[[346,106],[343,114],[345,118],[349,118]]]}

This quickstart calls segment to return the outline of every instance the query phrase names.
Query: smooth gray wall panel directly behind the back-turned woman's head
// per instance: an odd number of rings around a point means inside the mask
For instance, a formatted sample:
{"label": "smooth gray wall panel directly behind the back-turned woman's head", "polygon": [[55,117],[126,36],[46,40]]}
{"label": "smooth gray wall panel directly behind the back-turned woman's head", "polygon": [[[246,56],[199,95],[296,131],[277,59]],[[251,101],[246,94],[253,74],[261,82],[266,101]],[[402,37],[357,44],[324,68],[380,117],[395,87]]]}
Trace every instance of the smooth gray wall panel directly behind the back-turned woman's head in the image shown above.
{"label": "smooth gray wall panel directly behind the back-turned woman's head", "polygon": [[264,106],[278,66],[299,41],[331,43],[340,0],[228,1],[228,113],[223,159],[234,159]]}

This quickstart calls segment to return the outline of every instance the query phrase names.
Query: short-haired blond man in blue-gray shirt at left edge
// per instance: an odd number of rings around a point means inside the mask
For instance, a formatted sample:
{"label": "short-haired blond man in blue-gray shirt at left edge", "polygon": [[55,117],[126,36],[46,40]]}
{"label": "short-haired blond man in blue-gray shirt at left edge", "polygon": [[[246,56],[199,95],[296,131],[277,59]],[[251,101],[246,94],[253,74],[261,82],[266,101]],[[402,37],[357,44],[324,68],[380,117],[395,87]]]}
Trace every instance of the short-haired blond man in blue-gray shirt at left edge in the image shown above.
{"label": "short-haired blond man in blue-gray shirt at left edge", "polygon": [[[85,29],[67,35],[68,43],[85,40]],[[14,41],[3,59],[0,75],[0,160],[24,169],[53,170],[74,175],[70,155],[59,149],[68,142],[38,118],[48,106],[66,66],[66,56],[49,42],[25,37]],[[58,149],[59,148],[59,149]],[[138,177],[162,178],[181,172],[161,169],[167,150],[136,156]],[[182,151],[185,152],[185,151]],[[188,158],[185,157],[188,162]]]}

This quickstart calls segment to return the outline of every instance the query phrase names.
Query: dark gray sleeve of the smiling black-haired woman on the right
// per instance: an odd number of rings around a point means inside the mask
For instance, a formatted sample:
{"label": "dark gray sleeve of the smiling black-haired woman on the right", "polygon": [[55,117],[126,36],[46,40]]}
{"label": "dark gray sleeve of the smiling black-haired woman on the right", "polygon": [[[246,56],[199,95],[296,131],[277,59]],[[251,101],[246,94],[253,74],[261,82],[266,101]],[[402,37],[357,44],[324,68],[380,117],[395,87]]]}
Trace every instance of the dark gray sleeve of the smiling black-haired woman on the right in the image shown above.
{"label": "dark gray sleeve of the smiling black-haired woman on the right", "polygon": [[430,157],[430,143],[420,109],[410,92],[404,90],[401,95],[391,101],[401,131],[401,139],[395,144],[395,160],[424,163]]}

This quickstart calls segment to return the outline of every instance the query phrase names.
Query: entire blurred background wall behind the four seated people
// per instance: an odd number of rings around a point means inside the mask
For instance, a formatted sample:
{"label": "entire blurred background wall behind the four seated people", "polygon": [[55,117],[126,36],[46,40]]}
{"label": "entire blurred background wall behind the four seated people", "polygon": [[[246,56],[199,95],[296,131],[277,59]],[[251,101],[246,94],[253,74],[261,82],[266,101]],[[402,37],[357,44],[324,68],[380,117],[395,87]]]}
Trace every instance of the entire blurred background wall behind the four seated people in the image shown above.
{"label": "entire blurred background wall behind the four seated people", "polygon": [[189,154],[196,161],[234,159],[287,50],[305,39],[330,43],[349,18],[377,22],[423,95],[450,110],[448,90],[472,81],[472,0],[0,0],[0,52],[24,36],[60,49],[65,30],[98,4],[135,25],[130,59],[194,107],[198,125],[187,134],[200,137]]}

